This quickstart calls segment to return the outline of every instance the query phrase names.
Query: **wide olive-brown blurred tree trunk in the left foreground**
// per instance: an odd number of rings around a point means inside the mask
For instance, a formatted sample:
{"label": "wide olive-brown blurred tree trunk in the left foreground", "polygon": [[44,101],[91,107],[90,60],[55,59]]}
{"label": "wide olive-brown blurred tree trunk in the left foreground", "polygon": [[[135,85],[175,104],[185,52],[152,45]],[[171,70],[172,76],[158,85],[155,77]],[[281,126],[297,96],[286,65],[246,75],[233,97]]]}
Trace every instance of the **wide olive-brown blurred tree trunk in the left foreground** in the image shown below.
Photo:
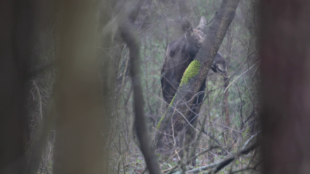
{"label": "wide olive-brown blurred tree trunk in the left foreground", "polygon": [[103,170],[102,136],[106,120],[99,114],[100,85],[95,61],[96,4],[83,0],[62,3],[53,172],[107,173]]}

